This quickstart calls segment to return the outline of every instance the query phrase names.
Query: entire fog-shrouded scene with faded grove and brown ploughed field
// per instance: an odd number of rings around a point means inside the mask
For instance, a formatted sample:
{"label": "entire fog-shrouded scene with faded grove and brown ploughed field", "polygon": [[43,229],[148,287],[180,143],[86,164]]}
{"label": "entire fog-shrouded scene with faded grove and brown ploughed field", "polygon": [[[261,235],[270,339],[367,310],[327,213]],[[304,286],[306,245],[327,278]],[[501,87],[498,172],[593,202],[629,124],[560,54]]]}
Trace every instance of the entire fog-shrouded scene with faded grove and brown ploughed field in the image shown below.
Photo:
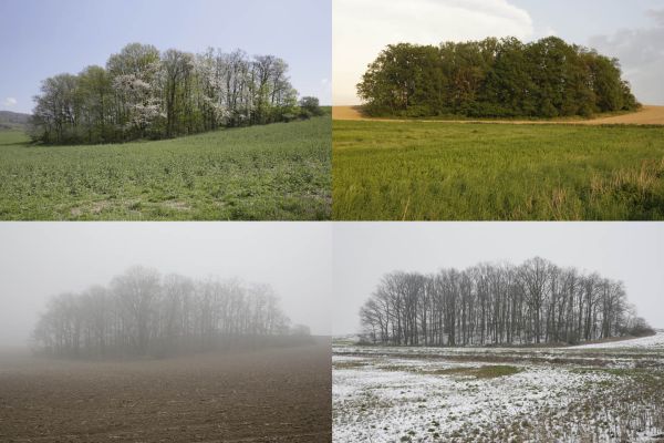
{"label": "entire fog-shrouded scene with faded grove and brown ploughed field", "polygon": [[330,441],[330,230],[6,224],[0,441]]}

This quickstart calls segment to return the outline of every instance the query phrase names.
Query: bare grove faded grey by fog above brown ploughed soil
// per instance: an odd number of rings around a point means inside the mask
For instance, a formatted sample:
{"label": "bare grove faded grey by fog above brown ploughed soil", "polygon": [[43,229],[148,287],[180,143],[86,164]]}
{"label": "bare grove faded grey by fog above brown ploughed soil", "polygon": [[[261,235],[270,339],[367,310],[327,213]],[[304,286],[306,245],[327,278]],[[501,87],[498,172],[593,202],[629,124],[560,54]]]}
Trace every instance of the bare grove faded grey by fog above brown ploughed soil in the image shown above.
{"label": "bare grove faded grey by fog above brown ploughed soil", "polygon": [[289,333],[308,329],[290,329],[269,286],[133,267],[108,287],[52,298],[33,339],[46,354],[103,358],[215,349]]}

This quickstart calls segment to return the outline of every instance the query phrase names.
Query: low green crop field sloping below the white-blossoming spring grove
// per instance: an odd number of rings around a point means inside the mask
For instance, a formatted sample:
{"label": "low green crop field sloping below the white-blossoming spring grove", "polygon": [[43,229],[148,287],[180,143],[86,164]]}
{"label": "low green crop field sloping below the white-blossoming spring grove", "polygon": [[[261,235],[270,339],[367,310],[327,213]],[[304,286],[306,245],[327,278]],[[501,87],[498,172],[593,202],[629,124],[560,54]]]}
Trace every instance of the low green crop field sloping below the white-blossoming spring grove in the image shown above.
{"label": "low green crop field sloping below the white-blossoming spring grove", "polygon": [[331,120],[95,146],[0,132],[0,219],[329,219]]}

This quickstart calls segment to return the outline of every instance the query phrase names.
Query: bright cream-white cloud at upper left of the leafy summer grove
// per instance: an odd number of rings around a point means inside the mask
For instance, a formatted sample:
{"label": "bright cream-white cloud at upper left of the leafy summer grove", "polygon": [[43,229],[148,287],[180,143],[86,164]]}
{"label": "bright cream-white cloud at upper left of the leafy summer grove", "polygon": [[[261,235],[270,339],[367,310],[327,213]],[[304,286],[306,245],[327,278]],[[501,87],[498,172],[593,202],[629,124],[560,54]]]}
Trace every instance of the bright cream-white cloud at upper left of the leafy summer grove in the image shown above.
{"label": "bright cream-white cloud at upper left of the leafy summer grove", "polygon": [[532,19],[508,0],[333,0],[334,104],[356,104],[355,85],[387,44],[532,35]]}

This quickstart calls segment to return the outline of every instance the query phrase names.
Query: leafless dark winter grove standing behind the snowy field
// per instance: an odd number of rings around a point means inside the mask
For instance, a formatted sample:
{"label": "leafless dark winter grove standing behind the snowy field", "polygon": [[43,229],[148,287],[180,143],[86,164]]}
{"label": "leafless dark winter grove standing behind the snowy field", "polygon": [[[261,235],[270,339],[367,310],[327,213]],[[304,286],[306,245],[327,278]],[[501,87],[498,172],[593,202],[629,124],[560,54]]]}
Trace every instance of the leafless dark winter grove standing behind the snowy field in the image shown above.
{"label": "leafless dark winter grove standing behind the snowy field", "polygon": [[539,257],[519,266],[391,272],[360,317],[366,341],[395,346],[580,343],[653,333],[621,281]]}

